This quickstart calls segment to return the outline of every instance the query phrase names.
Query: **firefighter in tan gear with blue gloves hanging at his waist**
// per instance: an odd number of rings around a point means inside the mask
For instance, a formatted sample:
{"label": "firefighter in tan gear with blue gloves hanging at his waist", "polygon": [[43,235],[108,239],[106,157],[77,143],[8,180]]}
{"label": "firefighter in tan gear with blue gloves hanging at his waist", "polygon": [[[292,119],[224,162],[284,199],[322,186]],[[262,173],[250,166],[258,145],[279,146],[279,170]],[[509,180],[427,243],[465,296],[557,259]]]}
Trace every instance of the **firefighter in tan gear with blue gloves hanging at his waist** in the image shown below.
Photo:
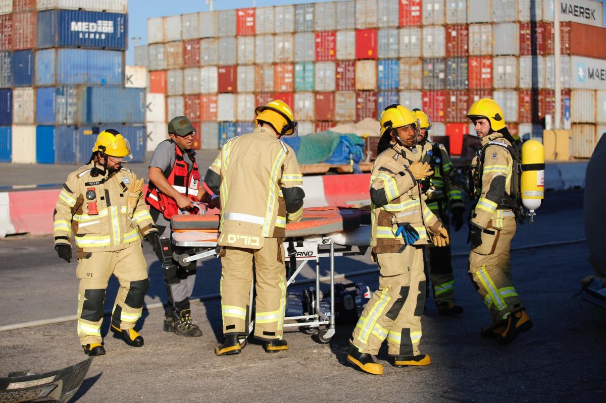
{"label": "firefighter in tan gear with blue gloves hanging at his waist", "polygon": [[446,246],[448,232],[421,198],[419,181],[433,174],[419,162],[419,120],[402,105],[381,114],[379,156],[370,174],[371,257],[379,265],[379,289],[373,293],[351,335],[348,361],[367,373],[381,375],[373,360],[387,339],[396,367],[429,365],[419,352],[425,305],[423,247]]}

